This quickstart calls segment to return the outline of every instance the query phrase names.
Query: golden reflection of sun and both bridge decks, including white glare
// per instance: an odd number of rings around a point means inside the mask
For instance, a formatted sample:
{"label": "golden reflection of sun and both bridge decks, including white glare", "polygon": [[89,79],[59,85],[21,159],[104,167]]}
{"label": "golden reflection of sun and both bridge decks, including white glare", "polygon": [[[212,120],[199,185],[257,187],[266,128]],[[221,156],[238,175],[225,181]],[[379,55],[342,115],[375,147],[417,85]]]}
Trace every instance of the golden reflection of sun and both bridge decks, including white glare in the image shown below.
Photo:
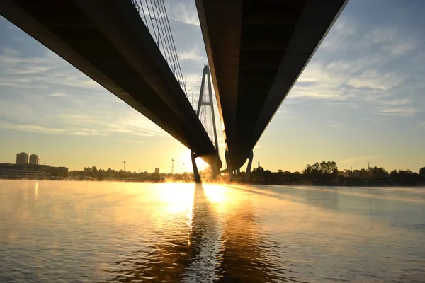
{"label": "golden reflection of sun and both bridge decks, including white glare", "polygon": [[154,217],[154,229],[161,229],[163,234],[147,248],[115,262],[111,270],[115,281],[285,279],[279,277],[283,262],[273,260],[276,257],[271,254],[271,246],[278,245],[263,233],[263,226],[257,222],[257,200],[249,192],[220,185],[179,184],[159,186],[156,192],[167,210],[176,214]]}

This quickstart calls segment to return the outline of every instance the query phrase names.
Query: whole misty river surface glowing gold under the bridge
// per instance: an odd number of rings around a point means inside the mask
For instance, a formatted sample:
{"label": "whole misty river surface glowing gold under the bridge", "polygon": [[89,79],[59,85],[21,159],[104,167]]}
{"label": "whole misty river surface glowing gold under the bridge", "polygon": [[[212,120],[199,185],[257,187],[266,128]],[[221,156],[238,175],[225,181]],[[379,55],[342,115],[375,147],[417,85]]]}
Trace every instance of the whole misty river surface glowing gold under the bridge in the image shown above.
{"label": "whole misty river surface glowing gold under the bridge", "polygon": [[425,282],[425,188],[0,180],[0,282]]}

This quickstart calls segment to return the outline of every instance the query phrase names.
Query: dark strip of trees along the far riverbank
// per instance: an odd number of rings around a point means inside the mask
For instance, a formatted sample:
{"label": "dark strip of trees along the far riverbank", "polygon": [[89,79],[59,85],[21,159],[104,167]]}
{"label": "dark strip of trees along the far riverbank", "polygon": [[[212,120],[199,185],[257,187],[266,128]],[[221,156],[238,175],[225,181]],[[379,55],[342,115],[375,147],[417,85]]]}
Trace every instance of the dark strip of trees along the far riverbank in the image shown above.
{"label": "dark strip of trees along the far riverbank", "polygon": [[[368,169],[339,171],[334,161],[307,164],[302,172],[278,170],[272,172],[262,167],[254,168],[249,180],[245,173],[234,175],[234,180],[229,180],[229,175],[221,175],[217,179],[210,178],[211,171],[206,169],[200,172],[205,183],[245,183],[256,185],[335,185],[335,186],[425,186],[425,167],[419,173],[410,170],[393,170],[388,172],[382,167]],[[93,181],[121,181],[121,182],[146,182],[146,183],[193,183],[193,173],[149,173],[147,171],[115,171],[97,169],[96,166],[85,167],[82,171],[69,171],[67,175],[49,176],[9,176],[4,179],[28,180],[93,180]]]}

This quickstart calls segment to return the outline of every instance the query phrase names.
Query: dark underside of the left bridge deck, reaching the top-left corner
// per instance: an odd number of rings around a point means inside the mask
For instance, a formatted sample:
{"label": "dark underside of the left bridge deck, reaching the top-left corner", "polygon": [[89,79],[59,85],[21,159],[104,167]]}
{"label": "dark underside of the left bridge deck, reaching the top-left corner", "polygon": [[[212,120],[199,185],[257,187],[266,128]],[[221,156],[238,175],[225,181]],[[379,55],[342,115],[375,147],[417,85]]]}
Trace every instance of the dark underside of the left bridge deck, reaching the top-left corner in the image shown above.
{"label": "dark underside of the left bridge deck, reaching the top-left corner", "polygon": [[217,166],[212,141],[130,0],[1,0],[0,14]]}

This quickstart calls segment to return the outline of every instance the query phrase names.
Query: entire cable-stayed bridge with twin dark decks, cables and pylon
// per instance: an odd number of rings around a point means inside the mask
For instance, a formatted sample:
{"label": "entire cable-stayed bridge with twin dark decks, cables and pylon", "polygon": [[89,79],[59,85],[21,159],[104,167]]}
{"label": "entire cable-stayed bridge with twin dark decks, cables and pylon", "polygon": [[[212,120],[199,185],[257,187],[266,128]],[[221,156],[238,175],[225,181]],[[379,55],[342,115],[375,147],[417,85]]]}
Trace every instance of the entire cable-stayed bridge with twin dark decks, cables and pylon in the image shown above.
{"label": "entire cable-stayed bridge with twin dark decks, cables and pylon", "polygon": [[[227,168],[238,171],[248,158],[251,166],[256,142],[348,0],[195,1]],[[217,137],[188,100],[175,47],[164,47],[172,41],[160,33],[171,33],[164,0],[150,2],[154,17],[140,0],[1,0],[0,14],[181,141],[193,163],[203,158],[217,173]],[[212,109],[212,100],[201,98],[198,106]]]}

